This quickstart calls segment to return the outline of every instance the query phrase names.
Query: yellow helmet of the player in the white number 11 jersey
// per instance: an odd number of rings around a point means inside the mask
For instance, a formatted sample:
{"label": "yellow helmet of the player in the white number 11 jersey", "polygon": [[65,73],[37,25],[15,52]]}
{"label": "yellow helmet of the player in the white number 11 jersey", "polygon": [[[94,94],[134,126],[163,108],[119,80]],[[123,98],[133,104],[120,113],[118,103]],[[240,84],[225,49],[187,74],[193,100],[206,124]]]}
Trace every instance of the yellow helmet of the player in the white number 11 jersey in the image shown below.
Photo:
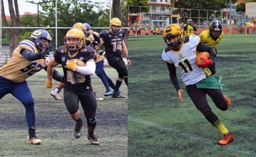
{"label": "yellow helmet of the player in the white number 11 jersey", "polygon": [[[170,42],[169,40],[176,35],[178,36],[178,40]],[[172,50],[179,50],[179,48],[181,48],[182,42],[184,41],[184,35],[181,31],[181,27],[177,24],[171,24],[169,26],[166,26],[163,29],[163,40]]]}

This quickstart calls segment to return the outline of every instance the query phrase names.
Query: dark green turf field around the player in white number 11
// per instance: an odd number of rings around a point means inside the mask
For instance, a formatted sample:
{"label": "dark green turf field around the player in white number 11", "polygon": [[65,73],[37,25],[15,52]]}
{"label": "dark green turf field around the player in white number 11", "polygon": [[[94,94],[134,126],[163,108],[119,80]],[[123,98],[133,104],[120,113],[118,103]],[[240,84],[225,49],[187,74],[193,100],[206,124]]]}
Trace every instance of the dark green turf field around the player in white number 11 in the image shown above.
{"label": "dark green turf field around the player in white number 11", "polygon": [[[135,156],[256,156],[256,35],[225,35],[219,44],[217,74],[232,105],[211,109],[234,134],[230,145],[196,109],[184,92],[180,103],[161,60],[162,37],[129,37],[128,155]],[[180,76],[179,76],[180,78]],[[180,80],[181,87],[184,85]]]}

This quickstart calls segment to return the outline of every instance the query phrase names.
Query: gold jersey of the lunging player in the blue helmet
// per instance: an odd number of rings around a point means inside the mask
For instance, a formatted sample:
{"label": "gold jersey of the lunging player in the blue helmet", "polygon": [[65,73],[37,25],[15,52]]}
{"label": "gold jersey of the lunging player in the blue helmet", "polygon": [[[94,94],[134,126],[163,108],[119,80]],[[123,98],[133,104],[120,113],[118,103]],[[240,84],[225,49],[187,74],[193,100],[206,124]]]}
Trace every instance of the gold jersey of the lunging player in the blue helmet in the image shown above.
{"label": "gold jersey of the lunging player in the blue helmet", "polygon": [[43,67],[47,66],[49,61],[48,58],[29,61],[20,54],[22,49],[28,49],[33,53],[38,53],[38,50],[32,41],[21,41],[12,53],[12,58],[6,65],[0,67],[1,77],[13,82],[23,82],[34,73],[43,69]]}

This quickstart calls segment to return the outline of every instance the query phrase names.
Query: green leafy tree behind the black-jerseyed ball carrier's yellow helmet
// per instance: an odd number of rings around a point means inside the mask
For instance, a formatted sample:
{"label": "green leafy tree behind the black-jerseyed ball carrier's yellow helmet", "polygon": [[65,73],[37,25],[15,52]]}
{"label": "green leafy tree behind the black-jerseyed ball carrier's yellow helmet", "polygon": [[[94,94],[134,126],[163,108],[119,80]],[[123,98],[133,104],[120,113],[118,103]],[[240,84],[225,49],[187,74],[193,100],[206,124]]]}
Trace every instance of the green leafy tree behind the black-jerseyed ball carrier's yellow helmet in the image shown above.
{"label": "green leafy tree behind the black-jerseyed ball carrier's yellow helmet", "polygon": [[[108,16],[106,10],[102,10],[100,6],[92,3],[81,3],[76,0],[61,0],[58,1],[58,27],[71,28],[76,22],[87,22],[92,27],[94,26],[108,26]],[[43,12],[41,25],[42,26],[55,26],[55,3],[44,3],[41,5]],[[95,8],[98,10],[95,11]],[[48,30],[53,35],[53,45],[55,42],[53,29]],[[67,29],[58,29],[58,43],[63,45],[63,39],[66,35]]]}

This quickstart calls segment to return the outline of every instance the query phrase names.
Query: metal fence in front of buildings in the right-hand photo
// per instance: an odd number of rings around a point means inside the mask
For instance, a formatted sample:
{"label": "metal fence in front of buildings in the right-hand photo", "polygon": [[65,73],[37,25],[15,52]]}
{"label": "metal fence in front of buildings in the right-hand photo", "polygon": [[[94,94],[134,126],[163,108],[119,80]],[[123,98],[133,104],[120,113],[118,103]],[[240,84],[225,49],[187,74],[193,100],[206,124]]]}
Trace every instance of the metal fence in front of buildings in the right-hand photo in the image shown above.
{"label": "metal fence in front of buildings in the right-hand photo", "polygon": [[[138,10],[138,12],[134,13],[134,10]],[[167,24],[172,23],[181,24],[182,26],[188,19],[192,19],[198,28],[207,27],[209,22],[214,19],[221,20],[223,27],[229,27],[230,29],[242,30],[243,28],[238,27],[252,27],[256,24],[256,16],[245,16],[245,12],[236,12],[236,9],[231,9],[231,7],[223,10],[202,10],[174,8],[169,5],[165,7],[149,6],[148,12],[140,10],[144,10],[144,6],[128,6],[130,26],[136,24],[140,26],[165,27]]]}

